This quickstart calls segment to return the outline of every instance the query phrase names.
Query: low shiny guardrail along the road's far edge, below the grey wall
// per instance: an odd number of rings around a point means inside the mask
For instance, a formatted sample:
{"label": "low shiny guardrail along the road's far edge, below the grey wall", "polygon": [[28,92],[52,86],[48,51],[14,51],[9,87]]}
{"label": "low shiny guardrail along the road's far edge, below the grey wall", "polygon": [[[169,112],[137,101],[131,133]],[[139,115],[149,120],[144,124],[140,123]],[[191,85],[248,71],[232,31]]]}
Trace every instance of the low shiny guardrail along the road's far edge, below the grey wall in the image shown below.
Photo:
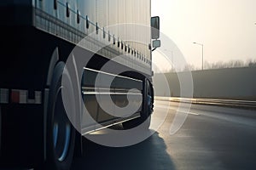
{"label": "low shiny guardrail along the road's far edge, below the grey wall", "polygon": [[155,97],[156,100],[167,100],[172,102],[192,103],[199,105],[220,105],[229,107],[239,107],[256,109],[256,101],[236,100],[236,99],[194,99],[194,98],[172,98],[172,97]]}

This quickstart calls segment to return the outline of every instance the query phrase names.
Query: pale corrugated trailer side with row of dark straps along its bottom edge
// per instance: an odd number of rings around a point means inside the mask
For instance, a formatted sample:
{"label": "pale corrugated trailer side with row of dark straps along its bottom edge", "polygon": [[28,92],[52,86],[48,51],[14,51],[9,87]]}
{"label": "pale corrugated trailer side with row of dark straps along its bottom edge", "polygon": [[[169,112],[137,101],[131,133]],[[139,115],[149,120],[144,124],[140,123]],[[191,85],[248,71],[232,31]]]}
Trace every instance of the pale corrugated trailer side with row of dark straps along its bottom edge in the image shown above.
{"label": "pale corrugated trailer side with row of dark straps along its bottom edge", "polygon": [[[79,37],[90,35],[95,40],[88,42],[88,49],[92,51],[95,51],[94,49],[96,49],[98,43],[108,42],[109,31],[112,36],[114,35],[116,42],[118,40],[125,42],[124,44],[127,47],[134,49],[136,54],[139,55],[131,55],[128,50],[125,51],[125,47],[123,49],[118,47],[117,43],[113,45],[113,37],[111,37],[112,45],[109,46],[113,48],[112,52],[104,49],[101,54],[108,58],[113,58],[116,54],[127,55],[129,57],[120,61],[122,64],[127,64],[138,71],[151,74],[149,62],[151,51],[148,48],[148,44],[151,43],[150,0],[57,0],[55,9],[53,9],[53,1],[35,0],[35,2],[35,7],[43,13],[51,15],[54,20],[61,20],[67,24],[67,26],[55,26],[55,22],[40,18],[38,15],[36,19],[39,21],[36,21],[36,23],[39,23],[37,25],[39,28],[43,26],[41,29],[75,43],[78,42]],[[69,10],[68,17],[67,6]],[[79,23],[78,14],[80,16]],[[86,17],[90,20],[89,29],[86,28]],[[98,34],[96,34],[96,25],[99,26]],[[68,26],[73,27],[74,30],[70,31]],[[106,31],[107,38],[103,38],[103,28]],[[79,36],[76,35],[76,30],[80,32]],[[113,51],[116,52],[113,53]]]}

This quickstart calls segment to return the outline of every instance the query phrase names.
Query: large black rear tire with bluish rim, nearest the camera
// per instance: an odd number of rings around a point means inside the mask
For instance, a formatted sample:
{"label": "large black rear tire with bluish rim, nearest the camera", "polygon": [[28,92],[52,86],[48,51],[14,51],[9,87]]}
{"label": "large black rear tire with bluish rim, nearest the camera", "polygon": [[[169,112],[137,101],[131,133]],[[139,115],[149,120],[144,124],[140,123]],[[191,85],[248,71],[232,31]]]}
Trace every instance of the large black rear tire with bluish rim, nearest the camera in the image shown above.
{"label": "large black rear tire with bluish rim, nearest the camera", "polygon": [[[75,128],[70,122],[63,105],[61,91],[62,72],[65,64],[55,66],[54,76],[49,88],[49,105],[47,114],[47,144],[44,169],[67,170],[73,161],[75,145]],[[72,87],[72,83],[70,83]],[[70,88],[70,87],[69,87]],[[73,94],[71,95],[71,102]],[[73,108],[75,109],[75,108]]]}

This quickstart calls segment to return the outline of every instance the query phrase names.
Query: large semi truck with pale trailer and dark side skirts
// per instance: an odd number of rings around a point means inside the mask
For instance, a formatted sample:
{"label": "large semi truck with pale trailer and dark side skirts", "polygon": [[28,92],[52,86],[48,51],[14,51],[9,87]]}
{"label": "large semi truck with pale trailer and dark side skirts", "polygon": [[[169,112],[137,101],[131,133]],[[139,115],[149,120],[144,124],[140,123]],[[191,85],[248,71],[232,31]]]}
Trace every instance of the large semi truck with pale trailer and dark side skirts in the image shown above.
{"label": "large semi truck with pale trailer and dark side skirts", "polygon": [[[69,169],[84,134],[117,123],[149,127],[152,51],[160,46],[150,0],[2,0],[0,25],[1,167]],[[77,55],[88,60],[73,62],[81,77],[66,69]],[[96,87],[97,77],[113,82]],[[65,89],[74,118],[63,104]],[[138,107],[129,116],[110,115],[100,104],[125,108],[129,95]],[[86,122],[81,105],[95,122]]]}

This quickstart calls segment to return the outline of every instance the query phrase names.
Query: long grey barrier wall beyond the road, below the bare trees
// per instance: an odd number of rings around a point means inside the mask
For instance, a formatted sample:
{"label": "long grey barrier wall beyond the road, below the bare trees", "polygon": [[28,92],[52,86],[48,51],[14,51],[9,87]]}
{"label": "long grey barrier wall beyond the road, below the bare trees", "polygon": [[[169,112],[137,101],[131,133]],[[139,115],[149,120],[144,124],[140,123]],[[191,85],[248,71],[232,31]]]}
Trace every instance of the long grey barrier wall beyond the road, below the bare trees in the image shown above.
{"label": "long grey barrier wall beyond the road, below the bare trees", "polygon": [[[256,100],[256,67],[192,71],[191,73],[194,82],[194,98]],[[167,85],[162,83],[163,75],[154,74],[155,95],[188,97],[180,96],[177,74],[185,73],[165,74]]]}

